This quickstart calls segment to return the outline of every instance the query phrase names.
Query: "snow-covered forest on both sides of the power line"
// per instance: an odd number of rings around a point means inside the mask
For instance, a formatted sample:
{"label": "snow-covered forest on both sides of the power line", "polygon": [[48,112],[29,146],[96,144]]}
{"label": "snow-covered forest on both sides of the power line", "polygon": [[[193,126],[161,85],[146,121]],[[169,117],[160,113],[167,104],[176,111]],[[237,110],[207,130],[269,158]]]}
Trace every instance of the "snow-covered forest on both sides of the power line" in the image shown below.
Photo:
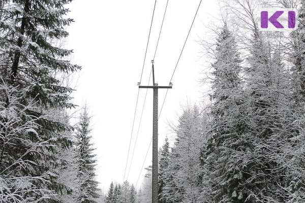
{"label": "snow-covered forest on both sides of the power line", "polygon": [[[0,202],[149,203],[144,180],[102,193],[91,116],[69,78],[69,0],[0,1]],[[159,150],[159,202],[305,202],[305,2],[230,0],[209,37],[202,103]],[[261,31],[256,12],[294,8],[294,31]],[[84,67],[86,68],[86,67]]]}

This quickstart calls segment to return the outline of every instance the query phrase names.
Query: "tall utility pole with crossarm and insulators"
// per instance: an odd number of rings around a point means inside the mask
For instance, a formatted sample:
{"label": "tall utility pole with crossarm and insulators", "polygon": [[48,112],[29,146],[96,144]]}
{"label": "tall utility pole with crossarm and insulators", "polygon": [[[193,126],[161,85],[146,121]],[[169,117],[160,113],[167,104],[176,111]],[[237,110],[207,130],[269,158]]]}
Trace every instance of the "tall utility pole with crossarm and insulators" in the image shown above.
{"label": "tall utility pole with crossarm and insulators", "polygon": [[152,88],[154,90],[154,107],[153,107],[153,203],[158,203],[158,89],[171,89],[172,86],[158,86],[155,83],[155,67],[154,60],[153,63],[153,86],[141,86],[139,88]]}

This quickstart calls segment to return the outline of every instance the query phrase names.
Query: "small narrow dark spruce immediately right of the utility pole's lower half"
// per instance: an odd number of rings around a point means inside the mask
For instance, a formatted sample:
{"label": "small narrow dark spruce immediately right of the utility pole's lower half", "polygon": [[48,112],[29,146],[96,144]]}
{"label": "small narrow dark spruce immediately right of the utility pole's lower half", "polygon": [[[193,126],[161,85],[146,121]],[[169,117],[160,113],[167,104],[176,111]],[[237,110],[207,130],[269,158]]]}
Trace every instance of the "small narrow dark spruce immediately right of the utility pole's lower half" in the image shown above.
{"label": "small narrow dark spruce immediately right of the utility pole's lower half", "polygon": [[165,139],[165,143],[162,146],[162,148],[159,151],[159,189],[158,189],[158,194],[159,194],[159,202],[160,203],[165,203],[165,199],[162,198],[162,193],[163,193],[163,187],[165,185],[164,183],[164,171],[168,166],[169,162],[169,157],[170,157],[170,151],[169,151],[169,142],[168,138]]}

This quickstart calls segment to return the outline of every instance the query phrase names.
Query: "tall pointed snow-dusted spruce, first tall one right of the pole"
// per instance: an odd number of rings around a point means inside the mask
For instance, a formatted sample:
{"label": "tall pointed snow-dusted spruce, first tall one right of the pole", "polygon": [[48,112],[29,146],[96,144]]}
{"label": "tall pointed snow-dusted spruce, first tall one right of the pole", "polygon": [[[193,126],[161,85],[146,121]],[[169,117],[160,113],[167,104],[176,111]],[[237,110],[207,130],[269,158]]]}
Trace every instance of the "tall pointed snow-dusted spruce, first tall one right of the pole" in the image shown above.
{"label": "tall pointed snow-dusted spruce, first tall one right of the pole", "polygon": [[[241,168],[236,167],[232,157],[236,151],[243,150],[240,139],[243,124],[239,118],[241,105],[242,80],[241,59],[237,51],[235,38],[225,24],[218,36],[212,63],[212,137],[208,140],[204,159],[205,167],[212,172],[212,192],[216,202],[244,202],[240,198],[240,179],[245,176]],[[204,155],[204,154],[203,154]]]}

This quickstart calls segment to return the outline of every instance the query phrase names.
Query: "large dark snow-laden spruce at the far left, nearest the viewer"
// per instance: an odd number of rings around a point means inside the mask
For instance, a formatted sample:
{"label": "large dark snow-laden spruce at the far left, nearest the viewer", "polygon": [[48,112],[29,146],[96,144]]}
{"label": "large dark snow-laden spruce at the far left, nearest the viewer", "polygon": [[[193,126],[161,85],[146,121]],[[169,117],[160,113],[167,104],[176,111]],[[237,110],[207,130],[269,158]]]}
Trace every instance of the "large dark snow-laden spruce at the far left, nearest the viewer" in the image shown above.
{"label": "large dark snow-laden spruce at the far left, nearest the viewer", "polygon": [[[18,130],[14,134],[5,125],[0,126],[4,138],[0,140],[0,176],[25,181],[9,187],[4,183],[8,190],[2,191],[13,195],[4,202],[48,202],[50,194],[65,189],[56,182],[51,171],[59,163],[53,154],[71,147],[71,139],[65,132],[72,128],[68,123],[52,120],[52,114],[46,110],[73,107],[69,101],[72,89],[62,86],[55,75],[71,74],[80,67],[65,60],[72,51],[53,44],[68,36],[64,28],[72,19],[64,18],[68,12],[64,6],[69,2],[2,1],[0,84],[5,88],[0,91],[3,104],[0,111],[19,112],[15,114],[13,129],[25,123],[32,125],[29,131]],[[11,94],[6,94],[7,91]],[[0,122],[7,123],[11,118],[2,116]],[[20,189],[23,194],[18,193]]]}

